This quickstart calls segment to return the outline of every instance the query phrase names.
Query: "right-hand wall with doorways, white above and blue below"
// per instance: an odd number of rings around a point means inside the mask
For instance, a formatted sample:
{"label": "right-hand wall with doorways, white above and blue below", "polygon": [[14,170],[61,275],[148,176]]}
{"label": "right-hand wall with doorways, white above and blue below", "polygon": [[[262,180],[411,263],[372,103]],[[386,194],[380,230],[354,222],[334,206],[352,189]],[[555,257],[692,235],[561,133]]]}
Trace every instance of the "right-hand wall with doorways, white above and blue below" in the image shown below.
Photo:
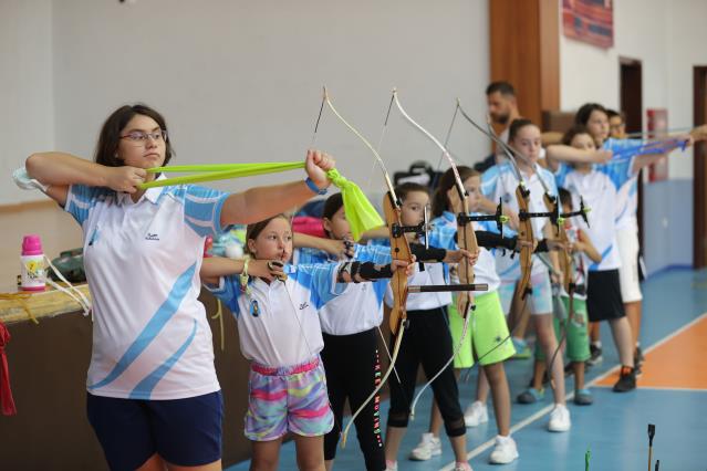
{"label": "right-hand wall with doorways, white above and blue below", "polygon": [[[617,108],[618,57],[643,64],[643,119],[646,108],[667,108],[668,126],[693,124],[693,66],[707,64],[704,0],[617,0],[614,2],[614,48],[601,50],[560,40],[561,107],[584,102]],[[582,71],[582,74],[576,74]],[[649,273],[669,265],[692,264],[693,153],[668,157],[669,179],[646,185],[644,253]],[[678,229],[679,228],[679,229]]]}

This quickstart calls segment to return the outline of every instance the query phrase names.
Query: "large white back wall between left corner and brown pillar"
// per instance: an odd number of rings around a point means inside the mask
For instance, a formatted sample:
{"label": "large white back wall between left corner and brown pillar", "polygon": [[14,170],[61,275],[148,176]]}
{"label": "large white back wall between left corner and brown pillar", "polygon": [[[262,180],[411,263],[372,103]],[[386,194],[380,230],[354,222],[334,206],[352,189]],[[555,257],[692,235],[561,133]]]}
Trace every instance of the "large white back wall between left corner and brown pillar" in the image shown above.
{"label": "large white back wall between left corner and brown pillar", "polygon": [[[485,113],[486,0],[444,8],[426,0],[62,0],[53,27],[55,144],[83,156],[108,113],[135,101],[167,117],[179,163],[302,159],[322,84],[374,143],[394,85],[408,112],[441,137],[456,96]],[[371,177],[373,157],[331,113],[316,146],[337,157],[343,175]],[[489,151],[461,122],[450,147],[470,161]],[[399,117],[383,148],[391,171],[439,157]],[[220,187],[266,180],[272,177]],[[373,181],[382,182],[377,172]]]}

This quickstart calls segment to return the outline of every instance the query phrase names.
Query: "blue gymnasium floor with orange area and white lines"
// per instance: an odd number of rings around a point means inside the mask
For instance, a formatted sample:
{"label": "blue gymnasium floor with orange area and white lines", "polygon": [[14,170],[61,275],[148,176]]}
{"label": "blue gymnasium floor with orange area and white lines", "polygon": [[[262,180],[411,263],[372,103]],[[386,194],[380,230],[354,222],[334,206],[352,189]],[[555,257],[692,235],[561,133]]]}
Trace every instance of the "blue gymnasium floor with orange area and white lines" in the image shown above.
{"label": "blue gymnasium floor with orange area and white lines", "polygon": [[[480,470],[583,470],[588,449],[591,450],[591,470],[646,469],[648,460],[647,425],[655,423],[653,460],[661,460],[662,470],[706,470],[704,448],[707,446],[707,271],[669,270],[652,276],[643,284],[644,324],[641,343],[647,353],[638,389],[614,394],[617,362],[611,332],[602,326],[604,362],[588,373],[594,393],[594,405],[578,407],[569,401],[572,430],[550,433],[545,426],[551,409],[551,397],[531,406],[513,404],[512,436],[518,443],[520,459],[508,465],[488,464],[496,425],[489,422],[467,429],[467,447],[475,471]],[[522,391],[531,374],[531,360],[508,362],[511,396]],[[460,385],[462,408],[472,398],[476,369],[467,384]],[[568,380],[568,391],[573,388]],[[428,395],[428,393],[426,393]],[[430,396],[420,400],[417,419],[401,448],[398,469],[451,470],[454,456],[446,437],[443,454],[429,461],[408,461],[407,453],[426,431]],[[382,406],[383,422],[387,417],[387,401]],[[228,468],[228,471],[248,469],[248,462]],[[283,446],[281,470],[295,470],[294,444]],[[339,451],[335,470],[363,470],[355,432]]]}

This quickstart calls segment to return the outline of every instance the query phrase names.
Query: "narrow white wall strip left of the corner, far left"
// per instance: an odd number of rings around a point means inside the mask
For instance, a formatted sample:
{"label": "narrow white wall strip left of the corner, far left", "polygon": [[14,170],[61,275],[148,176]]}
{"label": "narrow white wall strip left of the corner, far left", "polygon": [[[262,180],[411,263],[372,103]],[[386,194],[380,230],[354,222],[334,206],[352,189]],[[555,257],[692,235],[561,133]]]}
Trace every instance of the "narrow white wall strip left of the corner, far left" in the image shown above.
{"label": "narrow white wall strip left of the corner, far left", "polygon": [[51,43],[51,0],[0,1],[0,205],[38,198],[9,176],[54,146]]}

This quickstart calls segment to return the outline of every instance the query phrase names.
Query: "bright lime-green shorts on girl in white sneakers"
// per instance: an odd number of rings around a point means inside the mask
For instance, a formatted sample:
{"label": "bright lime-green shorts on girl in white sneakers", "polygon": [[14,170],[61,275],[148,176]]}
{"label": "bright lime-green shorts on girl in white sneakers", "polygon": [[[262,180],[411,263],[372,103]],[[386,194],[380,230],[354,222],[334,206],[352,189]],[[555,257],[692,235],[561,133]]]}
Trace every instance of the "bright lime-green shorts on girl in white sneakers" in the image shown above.
{"label": "bright lime-green shorts on girl in white sneakers", "polygon": [[[455,347],[464,331],[464,318],[457,311],[456,301],[455,296],[449,305],[449,331]],[[481,358],[481,365],[492,365],[516,354],[498,291],[476,295],[475,304],[476,310],[469,313],[471,317],[464,344],[454,358],[455,368],[471,368],[474,358]]]}

